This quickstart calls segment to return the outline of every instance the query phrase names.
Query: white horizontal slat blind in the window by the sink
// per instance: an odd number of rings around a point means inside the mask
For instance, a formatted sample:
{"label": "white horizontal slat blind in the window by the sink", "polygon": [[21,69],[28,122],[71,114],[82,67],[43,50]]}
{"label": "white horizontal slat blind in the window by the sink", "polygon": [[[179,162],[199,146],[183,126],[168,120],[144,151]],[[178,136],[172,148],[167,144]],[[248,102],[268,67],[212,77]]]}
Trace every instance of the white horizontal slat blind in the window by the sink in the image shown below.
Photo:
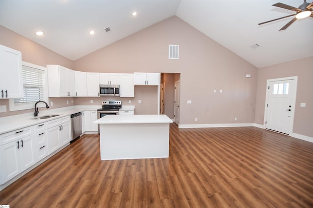
{"label": "white horizontal slat blind in the window by the sink", "polygon": [[45,71],[22,66],[24,97],[14,99],[15,104],[45,100]]}

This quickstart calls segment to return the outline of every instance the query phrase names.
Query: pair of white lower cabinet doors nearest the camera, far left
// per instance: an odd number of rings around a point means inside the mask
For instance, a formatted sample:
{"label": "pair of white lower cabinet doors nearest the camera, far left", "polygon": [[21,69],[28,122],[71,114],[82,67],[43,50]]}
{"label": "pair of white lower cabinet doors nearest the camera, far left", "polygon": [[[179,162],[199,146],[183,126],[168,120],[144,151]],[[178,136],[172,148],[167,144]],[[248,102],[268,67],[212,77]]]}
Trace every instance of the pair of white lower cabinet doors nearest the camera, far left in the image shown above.
{"label": "pair of white lower cabinet doors nearest the camera, far left", "polygon": [[0,146],[0,184],[4,184],[34,164],[34,135]]}

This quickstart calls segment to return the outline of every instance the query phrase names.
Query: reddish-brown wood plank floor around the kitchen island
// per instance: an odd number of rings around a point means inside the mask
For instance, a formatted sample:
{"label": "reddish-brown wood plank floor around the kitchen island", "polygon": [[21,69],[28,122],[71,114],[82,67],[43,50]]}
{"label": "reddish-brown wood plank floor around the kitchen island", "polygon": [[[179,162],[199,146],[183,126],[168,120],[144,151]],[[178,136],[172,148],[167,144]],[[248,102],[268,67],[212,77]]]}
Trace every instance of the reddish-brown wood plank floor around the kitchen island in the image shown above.
{"label": "reddish-brown wood plank floor around the kitchen island", "polygon": [[11,208],[313,207],[313,143],[256,127],[179,129],[166,159],[100,161],[85,135],[0,192]]}

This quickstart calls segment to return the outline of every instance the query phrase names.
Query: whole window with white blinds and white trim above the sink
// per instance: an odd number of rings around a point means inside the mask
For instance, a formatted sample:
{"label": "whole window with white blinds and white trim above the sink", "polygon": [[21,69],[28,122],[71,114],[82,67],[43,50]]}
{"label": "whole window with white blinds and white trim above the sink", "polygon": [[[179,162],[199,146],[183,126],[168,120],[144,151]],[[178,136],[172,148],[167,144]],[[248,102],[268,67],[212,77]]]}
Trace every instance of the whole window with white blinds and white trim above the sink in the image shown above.
{"label": "whole window with white blinds and white trim above the sink", "polygon": [[34,108],[37,101],[47,102],[45,67],[23,62],[22,80],[24,97],[10,99],[11,111]]}

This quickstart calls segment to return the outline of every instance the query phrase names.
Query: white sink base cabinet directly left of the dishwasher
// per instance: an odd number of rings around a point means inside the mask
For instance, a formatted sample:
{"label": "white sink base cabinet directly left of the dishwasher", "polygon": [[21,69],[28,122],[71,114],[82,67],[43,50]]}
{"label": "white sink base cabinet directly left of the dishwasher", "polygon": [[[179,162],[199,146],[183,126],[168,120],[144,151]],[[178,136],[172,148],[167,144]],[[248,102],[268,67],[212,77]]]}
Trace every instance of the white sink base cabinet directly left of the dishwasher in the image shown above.
{"label": "white sink base cabinet directly left of the dishwasher", "polygon": [[69,143],[71,139],[70,116],[47,122],[48,154]]}

